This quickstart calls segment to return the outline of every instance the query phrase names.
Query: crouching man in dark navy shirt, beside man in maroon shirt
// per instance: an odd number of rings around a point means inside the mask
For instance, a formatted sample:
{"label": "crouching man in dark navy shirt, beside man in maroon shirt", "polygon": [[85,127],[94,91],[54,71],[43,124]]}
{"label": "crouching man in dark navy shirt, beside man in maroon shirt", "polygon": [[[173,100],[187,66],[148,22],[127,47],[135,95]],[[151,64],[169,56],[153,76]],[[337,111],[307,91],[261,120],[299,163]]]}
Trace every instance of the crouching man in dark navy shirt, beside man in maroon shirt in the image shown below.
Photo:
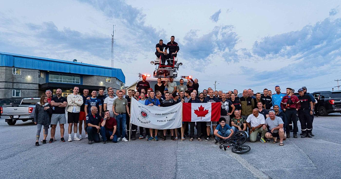
{"label": "crouching man in dark navy shirt, beside man in maroon shirt", "polygon": [[100,142],[100,135],[98,134],[101,130],[101,116],[98,113],[98,109],[96,106],[91,106],[91,113],[86,116],[87,123],[87,132],[88,132],[88,144],[92,144],[92,141],[95,143]]}

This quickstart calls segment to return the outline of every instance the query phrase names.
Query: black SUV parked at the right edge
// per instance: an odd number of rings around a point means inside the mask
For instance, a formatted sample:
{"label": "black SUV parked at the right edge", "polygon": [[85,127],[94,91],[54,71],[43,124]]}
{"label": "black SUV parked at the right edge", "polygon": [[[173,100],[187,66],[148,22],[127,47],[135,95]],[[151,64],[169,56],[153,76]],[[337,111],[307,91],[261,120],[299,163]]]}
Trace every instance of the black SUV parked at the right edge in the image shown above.
{"label": "black SUV parked at the right edge", "polygon": [[317,101],[315,113],[327,116],[329,113],[341,113],[341,91],[316,91],[311,93]]}

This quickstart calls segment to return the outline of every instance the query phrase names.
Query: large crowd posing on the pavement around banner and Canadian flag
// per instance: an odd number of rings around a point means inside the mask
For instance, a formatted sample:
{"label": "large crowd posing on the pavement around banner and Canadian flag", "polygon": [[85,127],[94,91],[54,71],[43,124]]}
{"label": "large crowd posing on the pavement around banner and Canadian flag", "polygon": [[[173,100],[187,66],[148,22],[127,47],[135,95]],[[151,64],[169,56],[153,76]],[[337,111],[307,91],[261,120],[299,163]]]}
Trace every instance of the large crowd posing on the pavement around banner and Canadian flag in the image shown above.
{"label": "large crowd posing on the pavement around banner and Canadian flag", "polygon": [[[68,141],[81,140],[83,138],[83,123],[85,138],[88,144],[100,142],[103,144],[108,140],[117,141],[136,140],[146,138],[148,141],[166,140],[170,136],[171,140],[182,140],[189,137],[190,141],[195,138],[199,141],[214,140],[218,143],[221,139],[230,138],[238,131],[244,131],[251,142],[257,140],[266,143],[273,140],[273,143],[284,145],[283,140],[290,138],[290,133],[297,138],[297,121],[301,123],[301,137],[312,137],[313,106],[316,100],[307,93],[307,88],[298,90],[299,95],[293,93],[293,89],[286,88],[286,95],[281,93],[279,86],[275,87],[276,93],[268,89],[263,90],[263,94],[253,94],[252,89],[243,90],[242,96],[238,97],[238,90],[214,91],[212,88],[204,89],[198,93],[198,79],[186,78],[180,80],[177,85],[172,77],[166,81],[158,79],[158,83],[151,88],[146,76],[142,77],[136,85],[136,90],[129,89],[126,94],[125,89],[116,90],[112,87],[92,90],[89,95],[88,89],[83,89],[83,94],[79,94],[79,88],[75,86],[73,93],[67,98],[62,96],[62,90],[56,90],[56,96],[52,97],[50,90],[41,96],[40,102],[35,107],[34,122],[37,124],[36,145],[39,145],[39,138],[42,126],[44,126],[44,138],[41,141],[46,143],[49,126],[50,139],[48,143],[56,141],[56,126],[60,126],[60,141],[64,139],[64,124],[66,115],[68,126]],[[177,103],[221,103],[219,122],[183,122],[182,129],[157,130],[139,127],[130,124],[130,104],[135,98],[143,105],[157,105],[161,107],[172,106]],[[66,114],[65,114],[66,113]],[[197,135],[194,136],[196,128]],[[72,129],[74,136],[72,137]],[[211,135],[211,129],[213,135]],[[77,136],[77,130],[79,136]],[[183,132],[181,132],[183,131]],[[203,139],[202,139],[203,138]]]}

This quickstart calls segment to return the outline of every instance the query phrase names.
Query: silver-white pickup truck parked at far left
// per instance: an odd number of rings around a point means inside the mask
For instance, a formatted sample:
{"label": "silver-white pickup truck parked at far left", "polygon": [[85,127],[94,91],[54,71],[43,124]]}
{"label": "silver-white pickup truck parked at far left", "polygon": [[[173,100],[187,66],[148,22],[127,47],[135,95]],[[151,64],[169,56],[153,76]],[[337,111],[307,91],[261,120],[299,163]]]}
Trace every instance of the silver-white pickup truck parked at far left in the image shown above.
{"label": "silver-white pickup truck parked at far left", "polygon": [[20,104],[4,105],[1,109],[1,119],[5,119],[8,125],[14,125],[17,120],[33,121],[35,104],[40,98],[24,98]]}

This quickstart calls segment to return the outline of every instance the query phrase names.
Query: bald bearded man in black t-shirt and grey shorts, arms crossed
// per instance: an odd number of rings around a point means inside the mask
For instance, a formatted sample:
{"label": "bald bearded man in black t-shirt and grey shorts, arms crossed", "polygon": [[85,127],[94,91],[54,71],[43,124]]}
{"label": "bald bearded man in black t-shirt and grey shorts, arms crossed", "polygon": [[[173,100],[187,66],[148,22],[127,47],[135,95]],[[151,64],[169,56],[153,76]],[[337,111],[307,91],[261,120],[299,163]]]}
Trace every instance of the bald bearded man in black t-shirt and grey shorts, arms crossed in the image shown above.
{"label": "bald bearded man in black t-shirt and grey shorts, arms crossed", "polygon": [[64,140],[64,124],[66,123],[65,118],[65,107],[68,105],[68,100],[62,96],[62,90],[56,90],[57,96],[51,99],[52,106],[52,116],[51,116],[51,138],[48,143],[52,143],[55,138],[56,126],[59,122],[60,126],[60,141],[65,142]]}

